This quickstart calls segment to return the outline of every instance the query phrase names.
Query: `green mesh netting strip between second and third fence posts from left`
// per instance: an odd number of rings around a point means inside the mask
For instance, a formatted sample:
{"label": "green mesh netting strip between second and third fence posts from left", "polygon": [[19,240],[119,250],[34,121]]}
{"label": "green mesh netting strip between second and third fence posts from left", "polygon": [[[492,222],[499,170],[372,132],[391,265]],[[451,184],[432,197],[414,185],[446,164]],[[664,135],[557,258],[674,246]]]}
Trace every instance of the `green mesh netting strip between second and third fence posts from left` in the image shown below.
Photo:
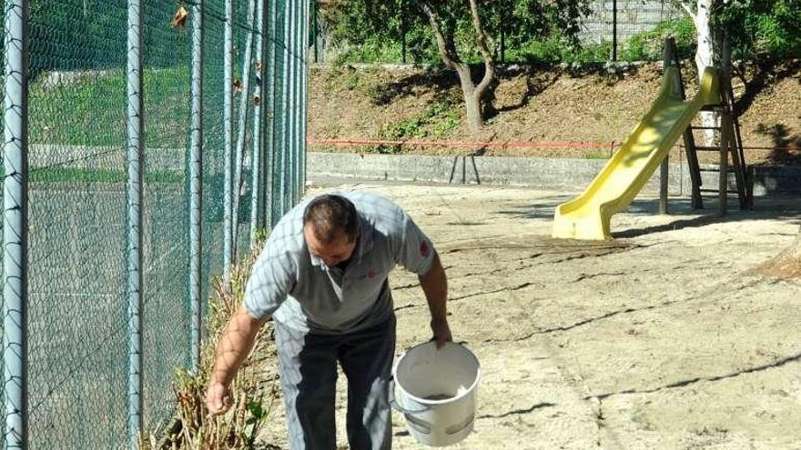
{"label": "green mesh netting strip between second and third fence posts from left", "polygon": [[170,384],[189,360],[188,149],[190,29],[170,26],[174,1],[144,8],[145,193],[143,425],[154,429],[174,410]]}

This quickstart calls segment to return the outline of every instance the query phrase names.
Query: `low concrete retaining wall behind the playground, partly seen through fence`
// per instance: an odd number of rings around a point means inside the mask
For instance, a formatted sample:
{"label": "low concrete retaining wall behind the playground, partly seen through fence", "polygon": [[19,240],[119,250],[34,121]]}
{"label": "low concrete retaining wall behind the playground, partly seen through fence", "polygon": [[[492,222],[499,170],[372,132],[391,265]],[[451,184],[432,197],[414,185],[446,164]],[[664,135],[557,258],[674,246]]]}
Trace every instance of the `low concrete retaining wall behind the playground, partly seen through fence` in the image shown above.
{"label": "low concrete retaining wall behind the playground, partly seen through fence", "polygon": [[[71,167],[87,170],[125,170],[124,147],[77,145],[31,145],[30,166]],[[148,148],[146,166],[151,171],[183,172],[186,150]],[[581,191],[592,180],[606,159],[526,158],[514,156],[426,156],[371,155],[309,152],[309,179],[337,176],[364,180],[427,181],[485,185],[525,185],[542,189]],[[709,165],[706,167],[715,167]],[[754,195],[801,194],[801,167],[755,166]],[[717,174],[702,173],[704,185],[716,188]],[[730,175],[734,186],[734,176]],[[643,192],[656,194],[659,175],[651,177]],[[684,164],[671,164],[668,178],[670,195],[689,195],[690,176]]]}

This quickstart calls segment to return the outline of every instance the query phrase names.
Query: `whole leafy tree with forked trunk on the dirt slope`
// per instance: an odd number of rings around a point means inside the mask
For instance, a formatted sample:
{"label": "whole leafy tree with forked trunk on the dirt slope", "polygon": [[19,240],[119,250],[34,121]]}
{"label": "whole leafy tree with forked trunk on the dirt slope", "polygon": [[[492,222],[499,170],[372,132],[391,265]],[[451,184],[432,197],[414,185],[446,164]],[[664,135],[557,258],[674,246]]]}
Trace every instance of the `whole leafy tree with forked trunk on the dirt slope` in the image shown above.
{"label": "whole leafy tree with forked trunk on the dirt slope", "polygon": [[[333,37],[352,45],[399,44],[411,36],[414,56],[431,52],[431,37],[442,63],[459,76],[471,132],[482,129],[485,96],[495,79],[496,56],[503,30],[507,41],[560,39],[578,46],[581,15],[588,0],[341,0],[330,8]],[[470,63],[481,61],[475,78]]]}

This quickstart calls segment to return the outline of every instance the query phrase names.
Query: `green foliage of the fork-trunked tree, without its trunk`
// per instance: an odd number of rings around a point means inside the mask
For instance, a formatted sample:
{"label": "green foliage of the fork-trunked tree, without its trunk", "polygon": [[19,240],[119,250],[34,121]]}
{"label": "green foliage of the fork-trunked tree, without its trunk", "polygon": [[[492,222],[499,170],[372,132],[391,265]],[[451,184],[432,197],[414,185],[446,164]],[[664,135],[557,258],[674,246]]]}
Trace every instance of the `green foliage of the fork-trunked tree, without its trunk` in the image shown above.
{"label": "green foliage of the fork-trunked tree, without its trunk", "polygon": [[[443,33],[454,36],[464,61],[481,59],[475,43],[470,4],[466,0],[430,2],[441,17]],[[480,3],[480,16],[493,52],[500,51],[501,35],[507,47],[532,41],[559,41],[578,48],[581,16],[589,1],[495,0]],[[335,42],[354,47],[399,47],[406,36],[412,61],[438,60],[429,20],[414,0],[340,0],[326,11]]]}

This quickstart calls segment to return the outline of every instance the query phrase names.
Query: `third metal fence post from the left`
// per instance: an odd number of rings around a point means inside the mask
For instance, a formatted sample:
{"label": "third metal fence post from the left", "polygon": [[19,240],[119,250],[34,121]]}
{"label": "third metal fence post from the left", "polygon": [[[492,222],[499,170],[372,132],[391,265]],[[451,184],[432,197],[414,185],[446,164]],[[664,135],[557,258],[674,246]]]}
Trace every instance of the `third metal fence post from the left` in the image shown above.
{"label": "third metal fence post from the left", "polygon": [[189,144],[189,307],[192,370],[200,368],[203,262],[203,0],[192,6],[192,130]]}

